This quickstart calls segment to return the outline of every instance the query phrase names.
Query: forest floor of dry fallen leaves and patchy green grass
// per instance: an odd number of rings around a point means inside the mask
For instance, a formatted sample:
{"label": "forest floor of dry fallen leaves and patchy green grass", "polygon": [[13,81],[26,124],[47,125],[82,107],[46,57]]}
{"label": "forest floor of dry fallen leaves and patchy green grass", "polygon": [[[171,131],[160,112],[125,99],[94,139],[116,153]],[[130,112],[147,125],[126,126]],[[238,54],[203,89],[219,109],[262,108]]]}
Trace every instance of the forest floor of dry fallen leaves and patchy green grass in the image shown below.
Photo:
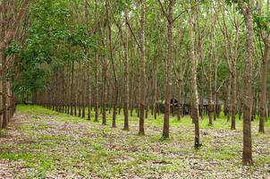
{"label": "forest floor of dry fallen leaves and patchy green grass", "polygon": [[[111,115],[108,115],[110,118]],[[270,178],[270,120],[266,134],[252,123],[254,166],[241,166],[242,131],[230,130],[224,118],[200,122],[199,150],[193,149],[189,117],[171,119],[170,140],[162,140],[163,115],[138,119],[122,131],[111,120],[104,126],[43,107],[19,106],[9,128],[0,134],[0,178]]]}

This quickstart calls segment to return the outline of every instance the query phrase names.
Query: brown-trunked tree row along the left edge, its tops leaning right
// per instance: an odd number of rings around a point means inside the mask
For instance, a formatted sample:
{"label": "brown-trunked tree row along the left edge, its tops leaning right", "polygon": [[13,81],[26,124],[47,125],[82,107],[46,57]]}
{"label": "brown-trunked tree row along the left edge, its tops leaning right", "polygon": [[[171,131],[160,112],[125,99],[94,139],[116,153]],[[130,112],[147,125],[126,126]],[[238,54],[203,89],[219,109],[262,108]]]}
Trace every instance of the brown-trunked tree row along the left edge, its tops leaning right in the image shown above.
{"label": "brown-trunked tree row along the left edge, its tops leaning right", "polygon": [[14,40],[22,41],[25,30],[20,28],[24,21],[29,1],[0,1],[0,130],[7,127],[15,110],[12,77],[18,47]]}

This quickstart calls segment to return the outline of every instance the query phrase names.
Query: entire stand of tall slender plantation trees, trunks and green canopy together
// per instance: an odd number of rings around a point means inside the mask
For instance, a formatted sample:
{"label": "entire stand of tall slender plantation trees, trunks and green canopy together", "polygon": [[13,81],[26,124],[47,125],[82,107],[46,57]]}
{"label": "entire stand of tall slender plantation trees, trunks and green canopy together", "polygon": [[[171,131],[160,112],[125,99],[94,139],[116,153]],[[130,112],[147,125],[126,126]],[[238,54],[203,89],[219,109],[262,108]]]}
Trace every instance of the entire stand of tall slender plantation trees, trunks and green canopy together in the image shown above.
{"label": "entire stand of tall slender plantation trees, trunks and green canopy together", "polygon": [[102,124],[112,109],[113,127],[123,109],[124,130],[136,110],[141,135],[148,112],[156,118],[164,104],[164,138],[170,114],[184,115],[182,107],[172,110],[171,99],[189,100],[196,149],[199,104],[207,98],[213,125],[223,99],[232,130],[243,114],[243,164],[252,164],[251,116],[260,115],[259,132],[265,132],[269,111],[269,0],[33,0],[27,9],[29,2],[1,1],[1,24],[10,26],[1,26],[7,36],[0,46],[2,89],[12,86],[19,100],[33,96],[37,104],[89,120],[92,107],[96,121],[101,108]]}

